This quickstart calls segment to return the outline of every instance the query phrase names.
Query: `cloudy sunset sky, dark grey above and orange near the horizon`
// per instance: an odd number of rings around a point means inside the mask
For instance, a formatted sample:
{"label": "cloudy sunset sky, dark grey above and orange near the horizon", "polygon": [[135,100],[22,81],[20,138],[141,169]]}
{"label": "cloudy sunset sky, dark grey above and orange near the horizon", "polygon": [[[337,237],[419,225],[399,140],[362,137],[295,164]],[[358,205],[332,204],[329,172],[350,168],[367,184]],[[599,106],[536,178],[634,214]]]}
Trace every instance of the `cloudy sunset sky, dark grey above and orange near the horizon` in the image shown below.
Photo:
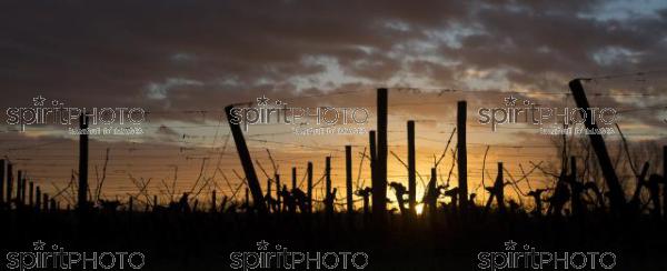
{"label": "cloudy sunset sky, dark grey above and orange near the horizon", "polygon": [[[491,173],[485,179],[495,178],[497,161],[520,175],[519,164],[554,164],[560,153],[559,137],[526,123],[491,131],[478,122],[478,109],[502,108],[509,96],[571,108],[574,78],[594,79],[585,84],[591,104],[620,112],[616,123],[636,152],[667,142],[664,1],[3,1],[0,32],[0,151],[52,193],[77,171],[78,142],[67,126],[18,132],[8,123],[6,110],[31,108],[37,97],[146,110],[142,134],[91,136],[90,179],[106,175],[106,198],[136,194],[132,179],[150,180],[162,201],[183,191],[230,193],[240,182],[231,170],[242,172],[223,107],[259,97],[290,107],[365,108],[370,116],[360,128],[374,130],[375,89],[389,88],[389,150],[407,160],[406,121],[416,120],[426,181],[455,127],[456,102],[466,100],[475,188],[482,168]],[[339,185],[344,145],[351,144],[355,179],[360,185],[369,178],[367,163],[359,171],[366,133],[296,136],[292,128],[250,127],[256,167],[271,174],[269,150],[283,180],[292,167],[301,180],[307,161],[317,179],[331,155]],[[617,134],[607,140],[618,149]],[[452,164],[446,153],[442,182]],[[405,182],[406,174],[390,154],[390,181]],[[169,189],[175,179],[178,189]],[[552,181],[530,179],[535,187]]]}

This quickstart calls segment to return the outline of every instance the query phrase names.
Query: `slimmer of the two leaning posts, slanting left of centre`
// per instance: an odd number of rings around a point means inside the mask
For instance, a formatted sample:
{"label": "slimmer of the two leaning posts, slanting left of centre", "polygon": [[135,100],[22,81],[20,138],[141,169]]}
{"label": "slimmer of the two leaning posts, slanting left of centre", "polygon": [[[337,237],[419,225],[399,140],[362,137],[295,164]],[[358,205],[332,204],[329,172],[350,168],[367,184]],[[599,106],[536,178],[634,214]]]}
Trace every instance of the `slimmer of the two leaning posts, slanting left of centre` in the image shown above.
{"label": "slimmer of the two leaning posts, slanting left of centre", "polygon": [[243,167],[243,172],[246,173],[246,180],[248,182],[248,187],[250,192],[252,193],[252,202],[255,208],[260,213],[266,213],[267,205],[263,201],[263,195],[261,193],[261,187],[259,185],[259,180],[257,179],[257,173],[255,172],[255,165],[252,164],[252,159],[250,158],[250,152],[248,151],[248,145],[246,145],[246,139],[243,138],[243,132],[241,131],[241,127],[238,122],[233,121],[235,117],[232,114],[233,106],[227,106],[225,111],[227,112],[227,119],[229,122],[229,128],[231,130],[231,134],[233,137],[233,142],[237,147],[237,152],[239,154],[239,159],[241,160],[241,165]]}

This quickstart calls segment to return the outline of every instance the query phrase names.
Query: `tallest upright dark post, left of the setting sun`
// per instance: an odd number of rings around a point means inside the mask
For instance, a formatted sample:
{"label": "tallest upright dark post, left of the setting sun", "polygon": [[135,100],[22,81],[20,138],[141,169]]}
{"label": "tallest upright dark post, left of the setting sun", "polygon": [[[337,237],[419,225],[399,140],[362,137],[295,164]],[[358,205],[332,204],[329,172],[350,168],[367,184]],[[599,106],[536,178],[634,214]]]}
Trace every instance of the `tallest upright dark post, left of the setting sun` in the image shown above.
{"label": "tallest upright dark post, left of the setting sun", "polygon": [[377,162],[372,180],[372,214],[381,222],[387,212],[387,89],[378,89],[377,97]]}

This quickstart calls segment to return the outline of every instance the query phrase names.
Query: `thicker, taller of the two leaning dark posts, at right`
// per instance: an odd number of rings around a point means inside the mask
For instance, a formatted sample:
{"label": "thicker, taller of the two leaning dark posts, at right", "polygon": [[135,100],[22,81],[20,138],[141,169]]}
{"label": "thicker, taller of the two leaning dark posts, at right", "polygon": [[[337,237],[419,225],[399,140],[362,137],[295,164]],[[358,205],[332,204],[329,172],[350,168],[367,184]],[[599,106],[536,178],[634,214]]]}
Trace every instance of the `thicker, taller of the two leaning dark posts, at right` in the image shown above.
{"label": "thicker, taller of the two leaning dark posts, at right", "polygon": [[[586,112],[580,112],[581,118],[585,119],[584,124],[588,130],[597,131],[598,127],[594,122],[594,119],[596,118],[595,116],[593,116],[594,112],[590,110],[590,106],[588,104],[588,99],[586,98],[584,86],[581,86],[581,80],[571,80],[569,82],[569,88],[573,91],[573,97],[575,98],[577,107],[586,110]],[[623,189],[620,188],[618,177],[614,171],[614,165],[611,164],[611,159],[609,158],[609,153],[607,152],[605,139],[599,133],[590,133],[588,134],[588,137],[590,138],[590,144],[593,145],[593,149],[598,158],[603,175],[605,177],[605,181],[607,182],[607,187],[609,188],[609,201],[611,203],[611,211],[621,214],[625,208],[625,195],[623,193]]]}

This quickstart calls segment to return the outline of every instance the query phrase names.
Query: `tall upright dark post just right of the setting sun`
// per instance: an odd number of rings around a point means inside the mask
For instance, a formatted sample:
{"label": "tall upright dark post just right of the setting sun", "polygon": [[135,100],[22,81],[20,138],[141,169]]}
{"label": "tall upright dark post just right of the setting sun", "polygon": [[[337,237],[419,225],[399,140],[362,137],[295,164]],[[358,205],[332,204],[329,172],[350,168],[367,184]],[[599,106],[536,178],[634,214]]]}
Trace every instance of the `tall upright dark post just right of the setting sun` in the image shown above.
{"label": "tall upright dark post just right of the setting sun", "polygon": [[457,103],[457,164],[458,164],[458,191],[459,191],[459,209],[462,213],[468,208],[468,154],[466,148],[466,119],[467,119],[467,103],[466,101],[459,101]]}

